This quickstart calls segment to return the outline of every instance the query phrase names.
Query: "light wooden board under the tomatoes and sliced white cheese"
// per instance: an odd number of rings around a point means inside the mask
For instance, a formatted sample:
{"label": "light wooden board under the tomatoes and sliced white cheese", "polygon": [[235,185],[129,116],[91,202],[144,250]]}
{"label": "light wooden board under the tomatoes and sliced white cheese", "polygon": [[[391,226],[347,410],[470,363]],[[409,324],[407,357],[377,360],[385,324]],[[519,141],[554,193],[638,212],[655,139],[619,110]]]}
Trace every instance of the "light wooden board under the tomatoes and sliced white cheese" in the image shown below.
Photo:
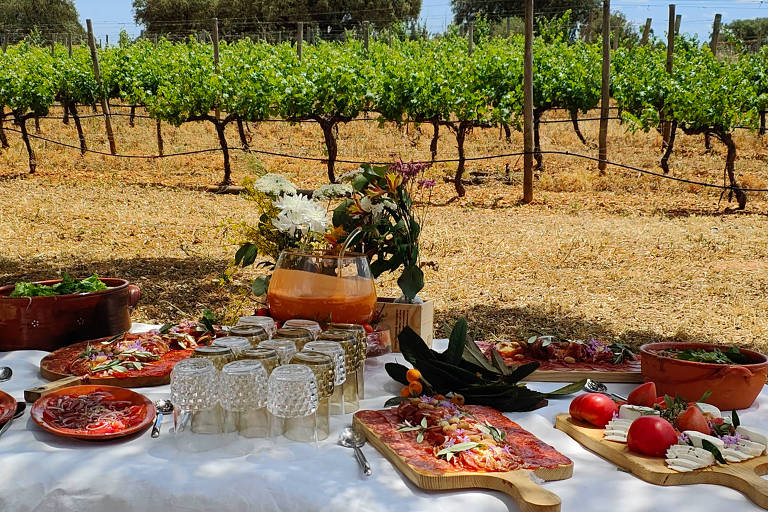
{"label": "light wooden board under the tomatoes and sliced white cheese", "polygon": [[762,475],[768,474],[768,455],[744,462],[679,473],[669,469],[663,458],[631,453],[624,443],[604,440],[602,429],[574,420],[569,414],[559,414],[555,428],[646,482],[656,485],[723,485],[741,491],[755,504],[768,509],[768,480],[761,478]]}

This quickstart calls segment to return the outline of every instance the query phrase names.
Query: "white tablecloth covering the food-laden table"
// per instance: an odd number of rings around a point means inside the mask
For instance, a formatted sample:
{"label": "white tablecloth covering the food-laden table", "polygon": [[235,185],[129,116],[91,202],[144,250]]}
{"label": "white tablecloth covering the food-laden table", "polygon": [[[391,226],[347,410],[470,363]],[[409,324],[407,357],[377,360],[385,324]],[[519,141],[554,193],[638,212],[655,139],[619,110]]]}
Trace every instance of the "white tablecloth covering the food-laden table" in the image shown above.
{"label": "white tablecloth covering the food-laden table", "polygon": [[[437,341],[436,348],[445,346]],[[41,383],[39,351],[0,353],[0,365],[13,368],[13,378],[0,389],[22,399],[23,390]],[[366,362],[366,396],[361,408],[381,408],[398,393],[399,384],[384,363],[403,362],[392,354]],[[531,383],[550,391],[560,384]],[[626,394],[632,385],[612,385]],[[152,400],[167,398],[167,386],[137,391]],[[552,427],[568,410],[570,398],[508,416],[555,446],[574,462],[573,477],[544,486],[562,498],[564,511],[723,511],[761,510],[741,493],[715,485],[659,487],[622,471],[582,448]],[[740,413],[742,423],[768,428],[768,394]],[[29,414],[0,437],[0,511],[121,512],[133,510],[228,511],[507,511],[518,510],[506,495],[494,491],[425,492],[405,479],[371,446],[363,450],[373,476],[365,478],[352,451],[336,445],[351,415],[331,417],[331,436],[314,444],[284,438],[243,438],[216,451],[180,452],[169,433],[152,439],[149,431],[123,440],[88,442],[61,438],[41,430]]]}

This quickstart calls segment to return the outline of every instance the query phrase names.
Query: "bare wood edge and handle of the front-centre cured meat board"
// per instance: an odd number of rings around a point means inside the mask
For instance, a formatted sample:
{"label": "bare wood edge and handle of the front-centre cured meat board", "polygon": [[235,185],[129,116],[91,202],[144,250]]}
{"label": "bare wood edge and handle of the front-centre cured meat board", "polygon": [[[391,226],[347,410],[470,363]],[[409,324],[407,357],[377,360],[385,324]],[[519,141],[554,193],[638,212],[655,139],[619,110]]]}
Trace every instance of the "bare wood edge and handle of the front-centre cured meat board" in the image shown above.
{"label": "bare wood edge and handle of the front-centre cured meat board", "polygon": [[356,429],[365,433],[368,441],[395,465],[411,482],[426,490],[492,489],[501,491],[515,500],[523,512],[558,512],[560,497],[533,481],[532,474],[542,480],[564,480],[573,475],[573,463],[556,468],[497,473],[437,473],[416,468],[400,457],[386,442],[381,440],[357,415],[353,417]]}

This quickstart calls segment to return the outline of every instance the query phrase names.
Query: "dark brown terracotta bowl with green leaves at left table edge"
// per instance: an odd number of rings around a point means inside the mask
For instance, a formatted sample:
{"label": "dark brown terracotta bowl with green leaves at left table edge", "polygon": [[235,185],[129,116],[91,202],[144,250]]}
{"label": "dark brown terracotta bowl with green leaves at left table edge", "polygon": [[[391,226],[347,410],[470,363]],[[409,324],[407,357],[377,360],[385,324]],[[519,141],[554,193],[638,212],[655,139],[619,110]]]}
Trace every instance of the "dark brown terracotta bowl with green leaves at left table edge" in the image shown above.
{"label": "dark brown terracotta bowl with green leaves at left table edge", "polygon": [[13,285],[1,287],[0,350],[50,351],[130,329],[131,311],[141,298],[139,288],[124,279],[101,280],[106,290],[53,297],[10,298]]}

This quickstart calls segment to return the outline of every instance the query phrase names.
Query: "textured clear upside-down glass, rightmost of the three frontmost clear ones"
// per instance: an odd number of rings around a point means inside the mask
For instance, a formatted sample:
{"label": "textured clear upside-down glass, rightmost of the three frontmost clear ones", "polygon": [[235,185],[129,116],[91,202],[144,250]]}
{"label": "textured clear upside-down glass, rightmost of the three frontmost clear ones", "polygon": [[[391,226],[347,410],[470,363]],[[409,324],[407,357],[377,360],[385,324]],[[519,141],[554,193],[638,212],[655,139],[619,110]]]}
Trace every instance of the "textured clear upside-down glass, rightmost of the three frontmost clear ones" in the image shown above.
{"label": "textured clear upside-down glass, rightmost of the three frontmost clear ones", "polygon": [[284,420],[285,437],[294,441],[317,441],[317,379],[308,366],[285,364],[269,376],[267,409]]}

